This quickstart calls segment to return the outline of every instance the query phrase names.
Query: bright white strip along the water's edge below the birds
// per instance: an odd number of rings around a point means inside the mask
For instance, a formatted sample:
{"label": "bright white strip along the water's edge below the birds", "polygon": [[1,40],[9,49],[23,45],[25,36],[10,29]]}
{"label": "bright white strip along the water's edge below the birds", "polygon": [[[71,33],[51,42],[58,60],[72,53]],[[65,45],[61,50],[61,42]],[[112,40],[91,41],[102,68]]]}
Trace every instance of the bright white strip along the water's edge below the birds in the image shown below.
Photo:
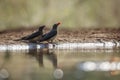
{"label": "bright white strip along the water's edge below the birds", "polygon": [[57,44],[10,44],[0,45],[0,51],[18,51],[18,50],[37,50],[37,49],[55,49],[55,50],[119,50],[120,42],[105,43],[57,43]]}

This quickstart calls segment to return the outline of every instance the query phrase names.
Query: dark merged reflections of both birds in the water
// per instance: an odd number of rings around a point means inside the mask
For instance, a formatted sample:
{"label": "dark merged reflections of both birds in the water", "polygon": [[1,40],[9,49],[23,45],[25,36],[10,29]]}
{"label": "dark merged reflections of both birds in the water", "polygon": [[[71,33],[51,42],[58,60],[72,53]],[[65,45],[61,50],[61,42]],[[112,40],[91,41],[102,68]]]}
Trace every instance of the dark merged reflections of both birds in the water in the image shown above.
{"label": "dark merged reflections of both birds in the water", "polygon": [[54,68],[57,68],[57,55],[54,53],[54,50],[46,49],[34,49],[29,50],[29,55],[34,56],[39,63],[40,67],[44,66],[44,56],[52,63]]}

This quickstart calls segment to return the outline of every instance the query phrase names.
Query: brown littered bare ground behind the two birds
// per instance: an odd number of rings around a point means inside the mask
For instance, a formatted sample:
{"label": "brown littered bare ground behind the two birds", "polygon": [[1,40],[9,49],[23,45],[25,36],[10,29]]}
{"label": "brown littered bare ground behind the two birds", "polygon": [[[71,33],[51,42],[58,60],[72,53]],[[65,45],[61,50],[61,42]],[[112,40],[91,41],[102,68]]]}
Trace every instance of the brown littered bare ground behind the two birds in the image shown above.
{"label": "brown littered bare ground behind the two birds", "polygon": [[[37,28],[7,30],[0,32],[0,44],[23,44],[22,41],[14,41],[31,34]],[[45,29],[44,33],[50,29]],[[120,41],[120,29],[59,29],[55,42],[99,42]]]}

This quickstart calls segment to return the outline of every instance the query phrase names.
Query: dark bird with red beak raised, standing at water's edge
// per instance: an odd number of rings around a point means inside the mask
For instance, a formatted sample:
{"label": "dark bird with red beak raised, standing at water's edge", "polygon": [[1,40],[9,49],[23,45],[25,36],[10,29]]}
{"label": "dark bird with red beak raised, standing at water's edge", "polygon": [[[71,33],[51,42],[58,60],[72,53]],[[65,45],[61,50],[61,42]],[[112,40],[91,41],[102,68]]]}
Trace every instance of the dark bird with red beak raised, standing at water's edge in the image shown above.
{"label": "dark bird with red beak raised, standing at water's edge", "polygon": [[44,34],[42,38],[39,40],[39,42],[47,41],[52,43],[55,37],[57,36],[58,25],[60,25],[60,22],[54,24],[50,32]]}

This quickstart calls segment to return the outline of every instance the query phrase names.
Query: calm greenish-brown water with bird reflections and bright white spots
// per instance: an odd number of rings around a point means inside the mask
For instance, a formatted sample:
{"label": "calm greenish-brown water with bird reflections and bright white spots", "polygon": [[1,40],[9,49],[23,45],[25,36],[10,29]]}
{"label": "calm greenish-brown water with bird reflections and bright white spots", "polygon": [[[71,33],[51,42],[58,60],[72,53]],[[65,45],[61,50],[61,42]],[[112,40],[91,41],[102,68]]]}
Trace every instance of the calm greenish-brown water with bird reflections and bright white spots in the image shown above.
{"label": "calm greenish-brown water with bird reflections and bright white spots", "polygon": [[0,80],[120,80],[120,51],[0,52]]}

